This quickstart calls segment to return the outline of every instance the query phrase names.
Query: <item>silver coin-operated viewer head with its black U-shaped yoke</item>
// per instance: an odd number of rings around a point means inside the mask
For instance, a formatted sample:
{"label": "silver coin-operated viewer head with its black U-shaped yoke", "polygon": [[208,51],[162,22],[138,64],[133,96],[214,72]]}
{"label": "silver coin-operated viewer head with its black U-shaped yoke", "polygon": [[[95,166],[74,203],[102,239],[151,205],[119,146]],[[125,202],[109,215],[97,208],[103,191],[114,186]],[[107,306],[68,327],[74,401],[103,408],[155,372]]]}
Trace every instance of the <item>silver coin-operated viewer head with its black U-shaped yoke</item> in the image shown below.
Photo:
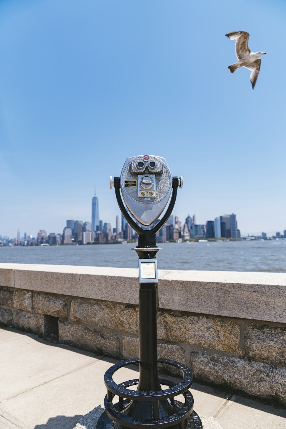
{"label": "silver coin-operated viewer head with its black U-shaped yoke", "polygon": [[[138,233],[138,245],[156,245],[155,235],[166,223],[175,205],[178,186],[183,187],[183,178],[172,177],[165,158],[154,155],[139,155],[128,158],[119,177],[110,177],[120,210],[129,225]],[[130,213],[127,212],[120,196]],[[163,218],[158,220],[172,198]]]}

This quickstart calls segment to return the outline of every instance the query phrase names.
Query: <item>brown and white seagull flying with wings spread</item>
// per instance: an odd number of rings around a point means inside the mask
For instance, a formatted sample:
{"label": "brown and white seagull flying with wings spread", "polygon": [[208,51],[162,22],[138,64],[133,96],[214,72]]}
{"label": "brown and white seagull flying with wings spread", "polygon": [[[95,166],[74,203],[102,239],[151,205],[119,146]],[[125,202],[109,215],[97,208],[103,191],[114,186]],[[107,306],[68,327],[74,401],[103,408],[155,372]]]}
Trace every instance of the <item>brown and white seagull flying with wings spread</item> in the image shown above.
{"label": "brown and white seagull flying with wings spread", "polygon": [[235,41],[235,52],[238,57],[238,61],[231,66],[228,66],[230,73],[234,73],[236,69],[244,66],[246,69],[251,71],[250,73],[250,82],[252,88],[254,89],[258,73],[260,70],[260,56],[266,54],[266,52],[251,52],[248,47],[249,33],[246,31],[232,31],[232,33],[227,33],[226,37],[230,40]]}

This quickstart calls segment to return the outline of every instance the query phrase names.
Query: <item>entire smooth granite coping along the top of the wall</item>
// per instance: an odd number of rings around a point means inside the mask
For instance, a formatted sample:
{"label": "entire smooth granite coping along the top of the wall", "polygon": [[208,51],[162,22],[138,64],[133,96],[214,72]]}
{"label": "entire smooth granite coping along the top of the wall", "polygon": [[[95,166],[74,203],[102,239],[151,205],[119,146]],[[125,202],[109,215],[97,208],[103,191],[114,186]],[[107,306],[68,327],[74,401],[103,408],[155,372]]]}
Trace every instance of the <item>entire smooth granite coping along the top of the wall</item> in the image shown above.
{"label": "entire smooth granite coping along the top of the wall", "polygon": [[[14,282],[12,281],[12,274]],[[159,307],[286,323],[286,274],[159,270]],[[138,269],[0,263],[1,286],[138,304]]]}

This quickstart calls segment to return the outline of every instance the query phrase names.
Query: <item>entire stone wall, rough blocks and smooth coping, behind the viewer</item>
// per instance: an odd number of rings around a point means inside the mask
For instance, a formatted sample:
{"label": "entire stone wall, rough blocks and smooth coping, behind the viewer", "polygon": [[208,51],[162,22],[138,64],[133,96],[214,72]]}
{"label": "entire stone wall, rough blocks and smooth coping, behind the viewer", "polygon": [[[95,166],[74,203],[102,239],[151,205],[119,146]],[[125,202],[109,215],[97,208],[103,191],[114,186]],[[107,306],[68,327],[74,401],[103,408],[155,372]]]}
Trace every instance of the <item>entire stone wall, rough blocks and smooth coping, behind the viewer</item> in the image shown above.
{"label": "entire stone wall, rough blocks and smooth coping, behind the viewer", "polygon": [[[138,356],[138,272],[0,264],[0,323],[116,358]],[[286,405],[286,275],[159,270],[158,356],[196,381]]]}

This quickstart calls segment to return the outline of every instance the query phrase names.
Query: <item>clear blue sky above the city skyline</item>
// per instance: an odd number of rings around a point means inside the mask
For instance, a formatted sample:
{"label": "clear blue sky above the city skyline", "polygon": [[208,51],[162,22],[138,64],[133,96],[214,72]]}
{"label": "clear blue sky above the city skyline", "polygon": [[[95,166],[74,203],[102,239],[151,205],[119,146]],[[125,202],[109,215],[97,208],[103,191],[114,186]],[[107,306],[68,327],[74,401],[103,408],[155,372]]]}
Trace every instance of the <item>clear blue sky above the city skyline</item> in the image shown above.
{"label": "clear blue sky above the city skyline", "polygon": [[[119,214],[127,157],[183,175],[175,211],[236,213],[242,233],[286,229],[284,1],[1,0],[0,234],[61,232]],[[227,67],[265,51],[256,88]]]}

